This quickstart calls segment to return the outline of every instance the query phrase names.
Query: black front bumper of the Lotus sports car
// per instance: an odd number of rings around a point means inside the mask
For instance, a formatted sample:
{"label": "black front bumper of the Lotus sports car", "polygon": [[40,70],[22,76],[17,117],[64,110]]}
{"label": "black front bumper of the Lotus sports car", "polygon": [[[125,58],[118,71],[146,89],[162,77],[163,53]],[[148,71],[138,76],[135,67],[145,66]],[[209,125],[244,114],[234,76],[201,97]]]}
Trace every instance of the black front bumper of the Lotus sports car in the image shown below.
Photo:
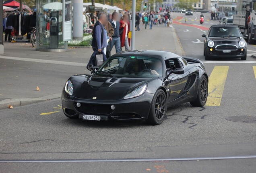
{"label": "black front bumper of the Lotus sports car", "polygon": [[[62,92],[62,108],[64,114],[68,117],[79,117],[83,115],[99,115],[101,120],[138,120],[147,119],[151,101],[154,94],[142,95],[133,99],[118,101],[95,101],[78,99],[66,95]],[[81,107],[77,107],[76,103],[81,103]],[[115,105],[115,109],[111,109],[111,105]]]}

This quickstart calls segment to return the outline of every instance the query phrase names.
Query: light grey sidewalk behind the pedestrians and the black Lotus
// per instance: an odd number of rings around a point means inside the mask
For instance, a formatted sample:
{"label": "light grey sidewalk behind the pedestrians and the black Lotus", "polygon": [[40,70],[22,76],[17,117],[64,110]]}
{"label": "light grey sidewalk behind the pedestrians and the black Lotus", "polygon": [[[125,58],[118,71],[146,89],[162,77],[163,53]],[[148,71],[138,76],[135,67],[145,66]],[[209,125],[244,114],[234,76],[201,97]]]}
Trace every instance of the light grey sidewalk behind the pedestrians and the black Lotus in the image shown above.
{"label": "light grey sidewalk behind the pedestrians and the black Lotus", "polygon": [[[174,28],[164,25],[136,32],[136,49],[164,50],[182,55]],[[38,52],[30,43],[4,42],[0,55],[0,109],[60,97],[68,77],[90,74],[86,64],[91,48],[68,48],[67,52]],[[115,48],[112,54],[115,53]],[[36,91],[39,87],[40,91]],[[25,99],[24,99],[25,98]]]}

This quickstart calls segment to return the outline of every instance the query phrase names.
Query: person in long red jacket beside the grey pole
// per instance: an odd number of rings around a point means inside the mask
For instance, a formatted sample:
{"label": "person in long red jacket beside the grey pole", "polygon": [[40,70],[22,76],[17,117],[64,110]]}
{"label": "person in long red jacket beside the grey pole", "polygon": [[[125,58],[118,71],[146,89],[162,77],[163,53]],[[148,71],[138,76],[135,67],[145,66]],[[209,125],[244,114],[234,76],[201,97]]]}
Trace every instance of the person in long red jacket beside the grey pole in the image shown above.
{"label": "person in long red jacket beside the grey pole", "polygon": [[130,32],[130,22],[129,16],[124,14],[122,20],[120,21],[120,41],[121,41],[121,50],[122,47],[125,47],[125,50],[129,50],[130,38],[128,38],[128,33]]}

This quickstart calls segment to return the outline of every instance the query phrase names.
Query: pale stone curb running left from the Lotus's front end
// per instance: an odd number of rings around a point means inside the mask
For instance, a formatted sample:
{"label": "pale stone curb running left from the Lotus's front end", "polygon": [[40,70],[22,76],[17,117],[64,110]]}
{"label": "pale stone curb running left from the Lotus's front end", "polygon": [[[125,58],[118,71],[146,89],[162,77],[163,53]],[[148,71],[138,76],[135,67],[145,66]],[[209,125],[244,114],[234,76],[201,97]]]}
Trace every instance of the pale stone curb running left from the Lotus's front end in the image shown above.
{"label": "pale stone curb running left from the Lotus's front end", "polygon": [[37,98],[5,99],[0,101],[0,109],[6,109],[9,107],[9,105],[12,105],[13,107],[18,107],[18,106],[29,105],[32,103],[58,99],[60,97],[61,97],[60,94],[53,94],[53,95],[47,95],[47,96],[37,97]]}

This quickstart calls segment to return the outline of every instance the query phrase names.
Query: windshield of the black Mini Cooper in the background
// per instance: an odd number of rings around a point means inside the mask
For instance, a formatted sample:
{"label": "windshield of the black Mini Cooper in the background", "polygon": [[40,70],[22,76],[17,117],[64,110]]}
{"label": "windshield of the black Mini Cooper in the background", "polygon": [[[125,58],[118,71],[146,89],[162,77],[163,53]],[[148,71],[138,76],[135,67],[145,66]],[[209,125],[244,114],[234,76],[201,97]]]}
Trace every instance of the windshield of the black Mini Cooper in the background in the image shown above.
{"label": "windshield of the black Mini Cooper in the background", "polygon": [[209,37],[242,37],[238,27],[213,27],[209,32]]}

